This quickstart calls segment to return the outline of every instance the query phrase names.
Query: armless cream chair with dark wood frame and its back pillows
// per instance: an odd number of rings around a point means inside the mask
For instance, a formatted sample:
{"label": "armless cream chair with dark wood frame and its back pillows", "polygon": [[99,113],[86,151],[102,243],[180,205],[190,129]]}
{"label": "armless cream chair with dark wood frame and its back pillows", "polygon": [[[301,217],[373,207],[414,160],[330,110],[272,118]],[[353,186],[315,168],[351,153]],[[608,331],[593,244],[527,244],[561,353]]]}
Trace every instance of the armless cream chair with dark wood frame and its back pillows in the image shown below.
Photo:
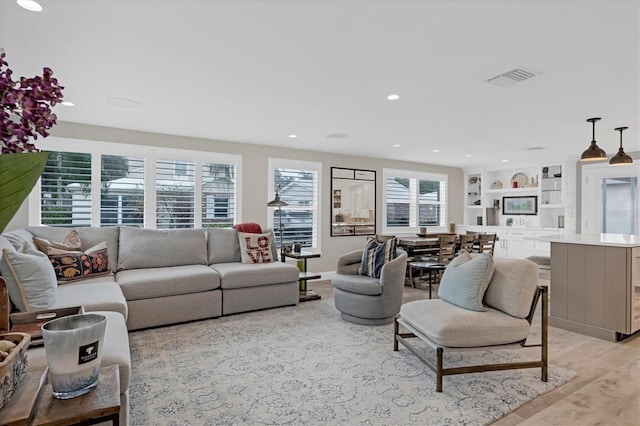
{"label": "armless cream chair with dark wood frame and its back pillows", "polygon": [[[547,381],[547,288],[538,285],[538,265],[524,259],[472,257],[466,251],[447,266],[439,299],[402,305],[395,319],[393,350],[398,343],[436,373],[436,391],[442,377],[482,371],[540,368]],[[540,344],[527,344],[538,301],[542,301]],[[408,332],[401,332],[402,328]],[[436,350],[433,356],[409,343],[417,338]],[[446,368],[445,351],[540,347],[540,359],[513,363]]]}

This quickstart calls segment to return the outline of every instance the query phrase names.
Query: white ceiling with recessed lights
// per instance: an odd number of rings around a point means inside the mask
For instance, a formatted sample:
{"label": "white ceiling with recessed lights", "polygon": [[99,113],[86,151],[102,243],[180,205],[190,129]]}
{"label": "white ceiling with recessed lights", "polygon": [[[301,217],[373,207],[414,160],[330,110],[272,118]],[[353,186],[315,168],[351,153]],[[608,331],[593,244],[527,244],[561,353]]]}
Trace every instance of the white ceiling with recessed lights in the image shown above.
{"label": "white ceiling with recessed lights", "polygon": [[[15,76],[53,69],[61,121],[493,167],[577,158],[600,116],[607,153],[619,126],[640,150],[638,0],[41,3],[0,2],[0,47]],[[517,67],[538,76],[485,82]]]}

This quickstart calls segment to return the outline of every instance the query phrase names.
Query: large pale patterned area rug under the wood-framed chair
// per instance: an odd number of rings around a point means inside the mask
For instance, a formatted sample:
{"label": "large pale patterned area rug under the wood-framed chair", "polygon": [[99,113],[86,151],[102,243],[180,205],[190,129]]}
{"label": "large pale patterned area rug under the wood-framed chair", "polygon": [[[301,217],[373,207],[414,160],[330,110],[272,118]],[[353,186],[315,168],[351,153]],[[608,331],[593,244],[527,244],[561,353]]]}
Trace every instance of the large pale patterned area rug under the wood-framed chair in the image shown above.
{"label": "large pale patterned area rug under the wood-framed chair", "polygon": [[437,393],[431,370],[393,351],[392,325],[344,322],[333,299],[133,332],[130,345],[132,425],[482,425],[575,376],[556,366],[546,383],[539,369],[448,376]]}

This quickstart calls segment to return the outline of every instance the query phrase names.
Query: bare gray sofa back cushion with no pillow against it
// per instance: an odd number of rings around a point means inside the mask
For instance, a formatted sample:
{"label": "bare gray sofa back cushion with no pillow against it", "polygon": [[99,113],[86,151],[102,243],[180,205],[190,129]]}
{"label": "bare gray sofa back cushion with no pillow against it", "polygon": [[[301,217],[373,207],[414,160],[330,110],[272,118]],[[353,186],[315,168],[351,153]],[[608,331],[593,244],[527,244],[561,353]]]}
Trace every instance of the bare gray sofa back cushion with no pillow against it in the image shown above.
{"label": "bare gray sofa back cushion with no pillow against it", "polygon": [[118,271],[180,265],[206,265],[202,229],[120,228]]}

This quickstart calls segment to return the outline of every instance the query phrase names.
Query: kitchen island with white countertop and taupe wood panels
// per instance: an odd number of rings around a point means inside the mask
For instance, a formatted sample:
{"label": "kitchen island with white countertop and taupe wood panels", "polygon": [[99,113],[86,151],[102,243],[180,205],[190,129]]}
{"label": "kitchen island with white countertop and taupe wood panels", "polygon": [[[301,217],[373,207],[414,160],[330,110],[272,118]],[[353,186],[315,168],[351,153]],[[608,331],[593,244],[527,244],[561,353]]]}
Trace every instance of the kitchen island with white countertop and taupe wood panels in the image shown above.
{"label": "kitchen island with white countertop and taupe wood panels", "polygon": [[610,341],[640,330],[640,235],[537,240],[551,243],[550,325]]}

